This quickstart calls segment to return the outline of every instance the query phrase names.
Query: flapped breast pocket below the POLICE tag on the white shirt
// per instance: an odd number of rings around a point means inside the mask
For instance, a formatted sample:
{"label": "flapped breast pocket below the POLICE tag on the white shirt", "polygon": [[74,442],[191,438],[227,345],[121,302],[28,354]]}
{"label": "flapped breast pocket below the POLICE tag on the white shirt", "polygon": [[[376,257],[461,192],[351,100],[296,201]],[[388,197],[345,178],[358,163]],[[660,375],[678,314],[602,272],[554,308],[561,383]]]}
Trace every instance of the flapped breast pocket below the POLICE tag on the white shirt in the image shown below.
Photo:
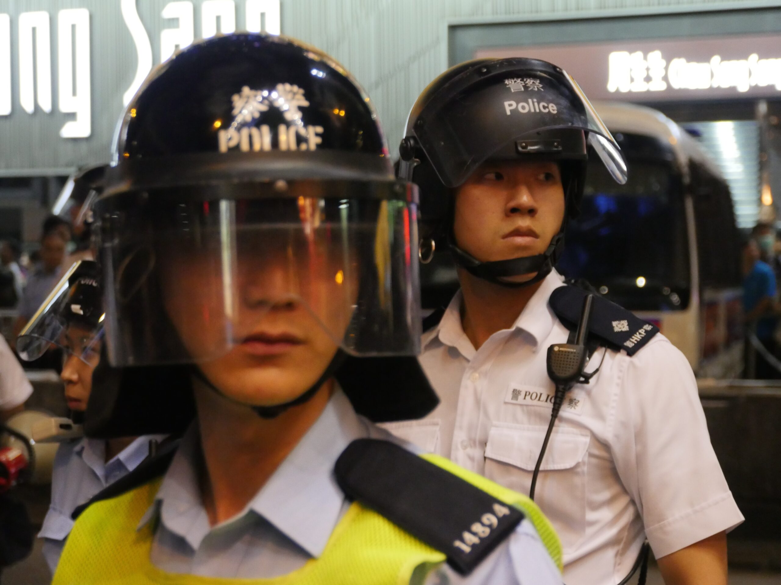
{"label": "flapped breast pocket below the POLICE tag on the white shirt", "polygon": [[[529,494],[547,427],[495,424],[486,445],[485,477]],[[535,502],[553,523],[565,554],[586,534],[586,471],[590,434],[554,427],[537,477]]]}

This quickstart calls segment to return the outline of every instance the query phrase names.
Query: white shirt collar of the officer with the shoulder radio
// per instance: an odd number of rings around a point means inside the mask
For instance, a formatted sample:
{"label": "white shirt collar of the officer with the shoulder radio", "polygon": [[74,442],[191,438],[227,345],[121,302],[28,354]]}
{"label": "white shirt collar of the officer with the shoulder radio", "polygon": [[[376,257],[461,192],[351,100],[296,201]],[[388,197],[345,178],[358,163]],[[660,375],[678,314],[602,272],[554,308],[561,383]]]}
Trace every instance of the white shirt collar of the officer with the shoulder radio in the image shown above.
{"label": "white shirt collar of the officer with the shoulder radio", "polygon": [[[559,286],[564,286],[564,278],[557,271],[551,271],[542,280],[540,288],[533,294],[529,303],[523,308],[521,314],[515,319],[511,330],[526,332],[530,336],[533,345],[539,349],[540,343],[547,339],[556,322],[556,316],[547,301],[551,293]],[[455,294],[448,308],[442,315],[437,327],[423,335],[423,348],[425,349],[433,340],[439,339],[446,346],[454,347],[467,360],[472,360],[476,350],[464,333],[461,323],[461,303],[463,296],[461,291]]]}

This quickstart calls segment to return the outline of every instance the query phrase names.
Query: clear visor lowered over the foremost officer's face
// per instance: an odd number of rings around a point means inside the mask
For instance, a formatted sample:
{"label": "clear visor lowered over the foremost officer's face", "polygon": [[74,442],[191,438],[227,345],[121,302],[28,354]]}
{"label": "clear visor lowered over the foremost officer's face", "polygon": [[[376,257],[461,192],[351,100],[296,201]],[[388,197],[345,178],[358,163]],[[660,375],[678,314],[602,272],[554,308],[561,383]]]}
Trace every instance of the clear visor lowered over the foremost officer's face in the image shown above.
{"label": "clear visor lowered over the foremost officer's face", "polygon": [[416,211],[394,198],[399,185],[278,181],[109,197],[98,221],[110,360],[198,363],[274,342],[417,353]]}

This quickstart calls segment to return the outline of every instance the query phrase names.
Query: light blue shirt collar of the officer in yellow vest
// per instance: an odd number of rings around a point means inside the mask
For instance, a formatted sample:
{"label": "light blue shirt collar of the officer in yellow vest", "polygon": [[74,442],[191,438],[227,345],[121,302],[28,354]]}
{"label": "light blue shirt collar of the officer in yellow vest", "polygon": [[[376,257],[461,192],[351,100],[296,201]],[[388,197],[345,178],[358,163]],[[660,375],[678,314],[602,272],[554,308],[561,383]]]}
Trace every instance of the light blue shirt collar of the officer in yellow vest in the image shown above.
{"label": "light blue shirt collar of the officer in yellow vest", "polygon": [[[248,516],[254,513],[273,524],[312,557],[319,557],[341,518],[345,503],[333,467],[351,441],[366,436],[366,424],[337,388],[318,420],[255,498],[223,526],[251,522]],[[198,428],[194,425],[182,439],[162,480],[155,504],[138,525],[141,528],[159,515],[166,529],[183,537],[193,550],[198,549],[212,530],[198,488],[198,449]]]}

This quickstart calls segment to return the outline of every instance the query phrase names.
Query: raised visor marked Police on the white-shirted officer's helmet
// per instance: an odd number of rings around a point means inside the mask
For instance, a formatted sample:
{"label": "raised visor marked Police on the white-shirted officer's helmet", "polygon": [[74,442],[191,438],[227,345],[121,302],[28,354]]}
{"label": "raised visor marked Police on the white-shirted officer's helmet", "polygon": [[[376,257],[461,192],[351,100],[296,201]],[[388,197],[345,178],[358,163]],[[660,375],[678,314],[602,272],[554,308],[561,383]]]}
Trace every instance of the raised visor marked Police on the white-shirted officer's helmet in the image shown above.
{"label": "raised visor marked Police on the white-shirted officer's helmet", "polygon": [[[508,144],[515,143],[521,154],[524,141],[562,130],[587,133],[613,179],[626,183],[619,145],[569,74],[522,71],[517,75],[487,77],[444,105],[430,103],[421,112],[415,137],[445,186],[462,185],[483,161]],[[568,155],[562,150],[555,158]],[[573,158],[581,156],[572,153]]]}

